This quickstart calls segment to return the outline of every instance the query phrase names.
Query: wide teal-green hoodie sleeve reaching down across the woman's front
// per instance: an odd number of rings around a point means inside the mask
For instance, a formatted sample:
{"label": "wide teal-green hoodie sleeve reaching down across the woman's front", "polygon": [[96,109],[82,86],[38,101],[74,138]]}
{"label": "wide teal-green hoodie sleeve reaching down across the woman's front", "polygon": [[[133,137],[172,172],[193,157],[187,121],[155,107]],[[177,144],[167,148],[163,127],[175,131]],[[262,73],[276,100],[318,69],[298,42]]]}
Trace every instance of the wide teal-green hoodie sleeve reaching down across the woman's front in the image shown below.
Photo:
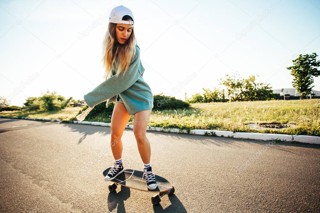
{"label": "wide teal-green hoodie sleeve reaching down across the woman's front", "polygon": [[140,61],[140,49],[138,47],[135,48],[135,56],[127,71],[124,73],[124,76],[122,72],[119,73],[118,77],[116,77],[116,75],[111,76],[91,92],[84,95],[84,101],[89,107],[94,107],[95,105],[123,92],[139,79],[140,71],[138,63]]}

